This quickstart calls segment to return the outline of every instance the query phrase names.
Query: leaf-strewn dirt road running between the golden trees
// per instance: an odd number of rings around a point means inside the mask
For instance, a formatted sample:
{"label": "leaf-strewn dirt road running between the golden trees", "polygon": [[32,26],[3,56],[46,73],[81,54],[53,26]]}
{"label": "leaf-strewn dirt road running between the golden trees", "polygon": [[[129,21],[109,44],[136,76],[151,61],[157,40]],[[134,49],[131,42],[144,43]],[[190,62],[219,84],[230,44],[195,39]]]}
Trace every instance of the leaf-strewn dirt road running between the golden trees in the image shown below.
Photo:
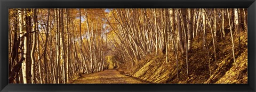
{"label": "leaf-strewn dirt road running between the golden trees", "polygon": [[130,76],[122,75],[117,70],[103,70],[100,72],[83,74],[82,77],[74,80],[72,84],[145,84]]}

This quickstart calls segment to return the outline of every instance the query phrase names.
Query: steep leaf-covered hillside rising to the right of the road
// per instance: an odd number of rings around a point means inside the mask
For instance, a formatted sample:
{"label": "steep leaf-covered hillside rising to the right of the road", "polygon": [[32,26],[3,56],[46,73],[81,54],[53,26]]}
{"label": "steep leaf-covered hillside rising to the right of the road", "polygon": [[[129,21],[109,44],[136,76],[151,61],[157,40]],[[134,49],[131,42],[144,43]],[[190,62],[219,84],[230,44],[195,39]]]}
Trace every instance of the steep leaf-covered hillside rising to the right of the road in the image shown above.
{"label": "steep leaf-covered hillside rising to the right of the road", "polygon": [[[203,49],[202,41],[193,42],[191,52],[189,52],[188,70],[186,73],[186,57],[179,56],[179,69],[177,78],[177,62],[175,54],[169,52],[169,63],[166,64],[165,56],[159,54],[157,57],[149,55],[145,59],[140,60],[138,66],[134,69],[125,70],[127,75],[137,77],[151,83],[170,83],[170,84],[246,84],[247,83],[247,32],[240,33],[241,48],[235,44],[236,64],[233,60],[232,43],[230,32],[226,39],[217,42],[217,61],[213,59],[213,47],[211,36],[207,36],[207,44],[210,52],[211,74],[209,70],[209,58],[207,52]],[[210,34],[207,34],[210,35]],[[238,43],[238,37],[234,43]],[[218,39],[221,39],[220,37]]]}

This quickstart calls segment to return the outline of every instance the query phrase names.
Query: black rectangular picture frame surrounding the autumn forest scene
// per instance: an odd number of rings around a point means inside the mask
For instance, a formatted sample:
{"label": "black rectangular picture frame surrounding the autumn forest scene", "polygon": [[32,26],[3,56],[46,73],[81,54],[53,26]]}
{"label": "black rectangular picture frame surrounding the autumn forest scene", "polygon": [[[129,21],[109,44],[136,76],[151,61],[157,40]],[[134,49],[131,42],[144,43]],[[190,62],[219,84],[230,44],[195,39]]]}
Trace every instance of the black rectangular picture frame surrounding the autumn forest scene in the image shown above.
{"label": "black rectangular picture frame surrounding the autumn forest scene", "polygon": [[[0,0],[0,91],[249,91],[255,85],[255,0]],[[8,8],[248,8],[248,84],[8,84]]]}

